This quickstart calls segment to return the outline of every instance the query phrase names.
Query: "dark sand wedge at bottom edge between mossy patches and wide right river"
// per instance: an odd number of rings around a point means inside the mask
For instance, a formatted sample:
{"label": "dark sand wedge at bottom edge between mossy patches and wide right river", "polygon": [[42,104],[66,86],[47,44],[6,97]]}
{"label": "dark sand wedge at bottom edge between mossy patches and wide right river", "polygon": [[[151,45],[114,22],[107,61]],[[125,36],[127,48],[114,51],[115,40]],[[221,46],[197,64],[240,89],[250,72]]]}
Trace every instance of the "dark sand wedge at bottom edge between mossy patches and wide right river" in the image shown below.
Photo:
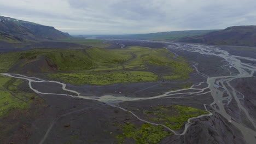
{"label": "dark sand wedge at bottom edge between mossy patches and wide right river", "polygon": [[183,136],[170,136],[160,143],[245,143],[241,133],[218,113],[195,119]]}

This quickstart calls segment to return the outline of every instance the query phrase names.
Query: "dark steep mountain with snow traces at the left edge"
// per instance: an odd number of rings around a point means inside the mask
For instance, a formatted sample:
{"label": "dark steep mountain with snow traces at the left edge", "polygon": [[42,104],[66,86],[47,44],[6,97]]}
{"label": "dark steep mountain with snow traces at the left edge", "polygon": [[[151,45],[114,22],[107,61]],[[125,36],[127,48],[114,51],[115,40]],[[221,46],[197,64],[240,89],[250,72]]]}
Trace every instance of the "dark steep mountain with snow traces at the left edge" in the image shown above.
{"label": "dark steep mountain with snow traces at the left edge", "polygon": [[71,36],[54,27],[0,16],[0,40],[4,41],[38,41],[66,39]]}

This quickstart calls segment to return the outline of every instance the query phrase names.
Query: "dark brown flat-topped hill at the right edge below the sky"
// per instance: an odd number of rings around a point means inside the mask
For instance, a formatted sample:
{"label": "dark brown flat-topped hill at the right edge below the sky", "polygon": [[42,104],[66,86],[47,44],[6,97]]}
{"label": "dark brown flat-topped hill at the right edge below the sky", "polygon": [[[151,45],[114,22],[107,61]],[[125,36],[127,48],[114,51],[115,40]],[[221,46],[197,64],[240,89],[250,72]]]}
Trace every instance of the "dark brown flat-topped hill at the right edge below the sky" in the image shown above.
{"label": "dark brown flat-topped hill at the right edge below the sky", "polygon": [[222,31],[184,38],[179,41],[211,45],[256,46],[256,26],[234,26]]}

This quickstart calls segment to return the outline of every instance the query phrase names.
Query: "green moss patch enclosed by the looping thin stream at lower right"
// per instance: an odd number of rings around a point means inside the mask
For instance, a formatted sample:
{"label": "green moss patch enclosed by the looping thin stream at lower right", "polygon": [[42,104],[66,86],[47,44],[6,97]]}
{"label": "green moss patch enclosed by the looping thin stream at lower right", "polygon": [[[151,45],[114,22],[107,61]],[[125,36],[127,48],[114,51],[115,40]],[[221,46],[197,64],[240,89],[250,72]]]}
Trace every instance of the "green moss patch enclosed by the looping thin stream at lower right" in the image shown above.
{"label": "green moss patch enclosed by the looping thin stream at lower right", "polygon": [[166,125],[172,130],[179,130],[191,117],[207,114],[205,110],[182,105],[158,105],[144,110],[144,115],[152,121]]}

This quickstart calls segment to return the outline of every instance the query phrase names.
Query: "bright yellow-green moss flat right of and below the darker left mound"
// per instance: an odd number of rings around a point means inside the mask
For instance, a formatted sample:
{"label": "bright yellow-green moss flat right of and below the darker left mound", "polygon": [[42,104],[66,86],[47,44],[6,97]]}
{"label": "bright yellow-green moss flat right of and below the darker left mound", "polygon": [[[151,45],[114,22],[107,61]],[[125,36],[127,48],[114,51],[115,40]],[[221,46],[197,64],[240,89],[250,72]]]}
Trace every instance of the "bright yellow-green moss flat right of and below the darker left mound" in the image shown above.
{"label": "bright yellow-green moss flat right of and below the darker left mound", "polygon": [[[132,46],[129,49],[104,50],[92,48],[86,50],[91,62],[90,69],[83,73],[58,73],[48,75],[52,79],[59,79],[77,85],[109,85],[120,82],[156,81],[160,76],[147,70],[149,65],[160,65],[170,69],[163,76],[169,80],[188,79],[192,71],[183,61],[174,61],[172,53],[166,49],[149,49],[147,47]],[[130,69],[134,69],[131,71]],[[119,71],[109,71],[119,70]],[[138,71],[140,70],[140,71]],[[97,71],[97,73],[95,73]]]}

